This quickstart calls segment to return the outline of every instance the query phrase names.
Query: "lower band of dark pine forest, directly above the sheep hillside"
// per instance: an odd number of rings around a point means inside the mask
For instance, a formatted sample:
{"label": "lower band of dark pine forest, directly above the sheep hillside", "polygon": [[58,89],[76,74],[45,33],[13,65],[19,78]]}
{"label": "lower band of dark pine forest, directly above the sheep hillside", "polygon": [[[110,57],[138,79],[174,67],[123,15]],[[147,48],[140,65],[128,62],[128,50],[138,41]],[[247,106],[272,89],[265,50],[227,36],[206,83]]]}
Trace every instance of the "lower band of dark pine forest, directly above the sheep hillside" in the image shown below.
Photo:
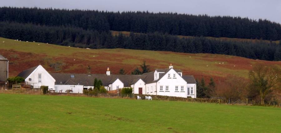
{"label": "lower band of dark pine forest, directly above the sheep hillside", "polygon": [[53,43],[82,48],[126,48],[185,53],[226,54],[269,61],[281,60],[280,44],[265,41],[227,41],[207,37],[179,38],[153,32],[131,32],[112,36],[111,32],[84,30],[77,27],[41,26],[15,22],[0,22],[0,37],[22,41]]}

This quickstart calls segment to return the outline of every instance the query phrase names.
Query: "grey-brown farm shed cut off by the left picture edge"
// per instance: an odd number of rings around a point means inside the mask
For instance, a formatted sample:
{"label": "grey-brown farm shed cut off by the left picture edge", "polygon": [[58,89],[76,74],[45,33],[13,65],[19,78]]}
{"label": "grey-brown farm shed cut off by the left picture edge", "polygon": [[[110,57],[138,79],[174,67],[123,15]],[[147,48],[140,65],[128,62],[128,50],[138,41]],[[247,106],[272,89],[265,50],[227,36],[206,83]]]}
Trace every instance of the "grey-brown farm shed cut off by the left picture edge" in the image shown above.
{"label": "grey-brown farm shed cut off by the left picture edge", "polygon": [[0,82],[6,82],[9,76],[9,61],[7,58],[0,55]]}

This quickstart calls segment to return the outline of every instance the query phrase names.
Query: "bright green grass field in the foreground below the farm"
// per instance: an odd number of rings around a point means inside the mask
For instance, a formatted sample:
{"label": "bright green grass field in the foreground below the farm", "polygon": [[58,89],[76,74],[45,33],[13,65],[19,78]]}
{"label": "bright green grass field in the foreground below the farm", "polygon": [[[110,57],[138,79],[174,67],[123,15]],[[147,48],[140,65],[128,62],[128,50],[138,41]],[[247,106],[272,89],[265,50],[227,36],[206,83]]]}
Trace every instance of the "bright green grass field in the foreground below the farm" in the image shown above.
{"label": "bright green grass field in the foreground below the farm", "polygon": [[0,94],[0,132],[281,132],[281,109]]}

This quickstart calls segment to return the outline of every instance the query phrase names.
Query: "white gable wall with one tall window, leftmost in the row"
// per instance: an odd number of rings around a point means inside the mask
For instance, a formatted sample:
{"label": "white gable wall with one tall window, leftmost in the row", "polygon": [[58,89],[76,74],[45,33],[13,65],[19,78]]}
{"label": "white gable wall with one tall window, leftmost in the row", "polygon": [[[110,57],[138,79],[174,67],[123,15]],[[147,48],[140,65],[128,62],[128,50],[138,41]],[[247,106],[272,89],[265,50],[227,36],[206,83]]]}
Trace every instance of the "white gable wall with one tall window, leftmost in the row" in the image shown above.
{"label": "white gable wall with one tall window, leftmost in the row", "polygon": [[[41,83],[38,82],[38,74],[41,73]],[[29,81],[31,78],[31,81]],[[41,86],[48,86],[49,89],[55,86],[55,80],[52,76],[40,65],[38,66],[26,79],[28,84],[32,85],[34,88],[40,88]]]}

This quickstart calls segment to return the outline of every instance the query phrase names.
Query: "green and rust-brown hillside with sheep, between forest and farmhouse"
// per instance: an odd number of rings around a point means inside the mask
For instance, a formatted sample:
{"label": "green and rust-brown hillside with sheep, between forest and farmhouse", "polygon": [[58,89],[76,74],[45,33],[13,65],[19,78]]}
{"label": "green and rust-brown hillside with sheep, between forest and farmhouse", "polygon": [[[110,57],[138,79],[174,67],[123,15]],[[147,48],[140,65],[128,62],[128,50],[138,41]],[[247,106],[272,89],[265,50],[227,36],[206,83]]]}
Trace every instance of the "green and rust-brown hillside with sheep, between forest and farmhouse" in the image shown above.
{"label": "green and rust-brown hillside with sheep, between forest and farmhouse", "polygon": [[10,60],[10,76],[16,76],[22,70],[39,64],[48,71],[57,73],[86,73],[86,67],[91,66],[92,73],[105,73],[106,68],[110,67],[113,74],[118,74],[121,68],[125,69],[126,74],[131,74],[131,71],[146,61],[150,64],[151,70],[167,68],[172,62],[174,68],[181,69],[185,75],[194,75],[196,79],[214,77],[217,81],[228,74],[247,78],[248,71],[257,63],[281,66],[281,62],[218,54],[83,49],[6,38],[0,38],[0,41],[0,54]]}

